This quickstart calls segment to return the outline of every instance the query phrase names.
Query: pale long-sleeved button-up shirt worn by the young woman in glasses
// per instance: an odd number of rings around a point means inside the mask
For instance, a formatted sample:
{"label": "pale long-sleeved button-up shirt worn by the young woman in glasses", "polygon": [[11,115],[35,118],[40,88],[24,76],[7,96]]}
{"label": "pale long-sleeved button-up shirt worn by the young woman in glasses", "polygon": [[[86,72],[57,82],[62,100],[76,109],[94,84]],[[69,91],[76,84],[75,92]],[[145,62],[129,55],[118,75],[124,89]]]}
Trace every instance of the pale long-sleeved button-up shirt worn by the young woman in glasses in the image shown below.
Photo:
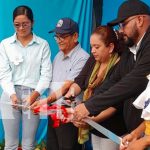
{"label": "pale long-sleeved button-up shirt worn by the young woman in glasses", "polygon": [[14,85],[34,88],[40,94],[52,78],[50,48],[46,40],[33,34],[28,45],[17,40],[16,33],[0,43],[0,83],[10,95]]}

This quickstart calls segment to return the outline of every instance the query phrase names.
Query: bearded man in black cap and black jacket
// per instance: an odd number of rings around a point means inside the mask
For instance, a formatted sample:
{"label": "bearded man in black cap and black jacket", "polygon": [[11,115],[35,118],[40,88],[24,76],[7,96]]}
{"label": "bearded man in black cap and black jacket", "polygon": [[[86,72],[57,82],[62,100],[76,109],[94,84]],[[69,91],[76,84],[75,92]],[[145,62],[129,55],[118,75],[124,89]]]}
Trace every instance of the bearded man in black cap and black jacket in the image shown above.
{"label": "bearded man in black cap and black jacket", "polygon": [[132,106],[132,102],[145,89],[146,76],[150,74],[150,8],[140,0],[125,1],[119,7],[117,19],[108,25],[120,26],[129,50],[123,52],[115,71],[95,96],[75,107],[74,118],[80,121],[124,102],[124,117],[130,132],[142,121],[141,112]]}

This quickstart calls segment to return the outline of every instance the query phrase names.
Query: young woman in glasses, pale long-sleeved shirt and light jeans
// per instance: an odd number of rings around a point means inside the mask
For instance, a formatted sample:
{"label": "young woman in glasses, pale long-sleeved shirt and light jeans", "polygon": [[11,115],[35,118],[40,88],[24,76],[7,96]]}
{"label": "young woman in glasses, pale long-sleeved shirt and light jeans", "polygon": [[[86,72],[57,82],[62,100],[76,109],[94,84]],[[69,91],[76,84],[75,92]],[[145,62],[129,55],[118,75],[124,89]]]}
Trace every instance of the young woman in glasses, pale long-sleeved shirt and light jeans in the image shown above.
{"label": "young woman in glasses, pale long-sleeved shirt and light jeans", "polygon": [[50,48],[47,41],[32,32],[33,23],[33,13],[28,6],[16,7],[13,12],[16,32],[0,44],[5,150],[18,149],[20,122],[22,149],[34,149],[39,116],[34,115],[27,106],[37,100],[51,80]]}

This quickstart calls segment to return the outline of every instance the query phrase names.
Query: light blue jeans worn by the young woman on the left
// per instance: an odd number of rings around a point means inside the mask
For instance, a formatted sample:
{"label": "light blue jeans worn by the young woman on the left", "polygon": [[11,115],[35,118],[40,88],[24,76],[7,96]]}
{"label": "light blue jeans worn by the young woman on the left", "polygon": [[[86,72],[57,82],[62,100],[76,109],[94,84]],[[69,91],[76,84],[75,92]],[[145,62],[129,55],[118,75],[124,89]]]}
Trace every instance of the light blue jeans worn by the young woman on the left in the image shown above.
{"label": "light blue jeans worn by the young woman on the left", "polygon": [[[19,103],[31,94],[33,89],[25,86],[15,86]],[[10,102],[6,93],[2,93],[2,103]],[[30,110],[14,109],[11,105],[1,105],[1,116],[5,132],[5,150],[17,150],[19,145],[19,130],[22,122],[22,149],[35,148],[35,134],[39,124],[39,115],[34,115]]]}

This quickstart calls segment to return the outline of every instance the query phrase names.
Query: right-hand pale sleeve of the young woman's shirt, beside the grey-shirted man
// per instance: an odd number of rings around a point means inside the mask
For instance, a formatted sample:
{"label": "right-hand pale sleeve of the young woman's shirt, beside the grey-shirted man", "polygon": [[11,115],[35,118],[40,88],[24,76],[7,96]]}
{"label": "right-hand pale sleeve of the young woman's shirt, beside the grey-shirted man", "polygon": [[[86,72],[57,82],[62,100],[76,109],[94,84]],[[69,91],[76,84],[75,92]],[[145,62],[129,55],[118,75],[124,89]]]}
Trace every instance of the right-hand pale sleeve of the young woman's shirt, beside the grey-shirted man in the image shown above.
{"label": "right-hand pale sleeve of the young woman's shirt, beside the grey-shirted man", "polygon": [[48,43],[45,43],[43,54],[42,54],[42,61],[40,65],[40,79],[35,88],[40,94],[44,92],[50,85],[50,81],[52,79],[52,63],[51,63],[51,51]]}

